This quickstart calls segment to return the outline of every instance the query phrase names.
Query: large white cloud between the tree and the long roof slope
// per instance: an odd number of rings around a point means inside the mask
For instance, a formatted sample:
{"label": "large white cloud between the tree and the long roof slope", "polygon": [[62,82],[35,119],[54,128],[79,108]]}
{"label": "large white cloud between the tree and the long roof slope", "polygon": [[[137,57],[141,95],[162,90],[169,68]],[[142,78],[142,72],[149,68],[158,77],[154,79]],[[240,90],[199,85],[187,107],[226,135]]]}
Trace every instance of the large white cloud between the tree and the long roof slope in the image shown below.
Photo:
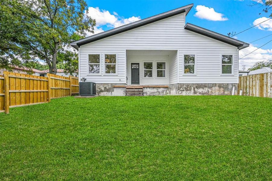
{"label": "large white cloud between the tree and the long roof slope", "polygon": [[129,24],[135,21],[141,20],[141,17],[129,17],[129,18],[124,18],[120,17],[117,12],[113,11],[111,14],[107,10],[99,9],[99,7],[89,7],[88,8],[88,16],[92,17],[93,19],[96,20],[96,26],[94,27],[94,33],[89,33],[86,32],[87,36],[91,36],[93,34],[101,33],[104,32],[103,27],[106,25],[107,27],[120,27],[125,24]]}

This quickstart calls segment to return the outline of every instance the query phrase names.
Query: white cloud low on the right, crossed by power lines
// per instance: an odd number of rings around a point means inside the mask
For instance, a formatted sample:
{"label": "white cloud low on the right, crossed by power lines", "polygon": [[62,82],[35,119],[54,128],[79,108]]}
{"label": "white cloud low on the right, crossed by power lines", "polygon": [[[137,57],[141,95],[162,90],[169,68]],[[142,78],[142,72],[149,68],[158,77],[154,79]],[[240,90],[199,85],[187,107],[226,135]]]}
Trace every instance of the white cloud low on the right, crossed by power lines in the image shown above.
{"label": "white cloud low on the right, crossed by power lines", "polygon": [[[248,53],[254,51],[258,47],[255,47],[253,45],[249,45],[248,48],[242,49],[239,51],[239,58],[242,58],[243,56],[247,55]],[[255,52],[249,54],[248,56],[245,56],[245,58],[242,58],[239,60],[239,70],[242,70],[242,65],[245,65],[245,69],[247,70],[252,65],[254,65],[256,62],[264,61],[264,60],[272,60],[272,49],[258,49]]]}

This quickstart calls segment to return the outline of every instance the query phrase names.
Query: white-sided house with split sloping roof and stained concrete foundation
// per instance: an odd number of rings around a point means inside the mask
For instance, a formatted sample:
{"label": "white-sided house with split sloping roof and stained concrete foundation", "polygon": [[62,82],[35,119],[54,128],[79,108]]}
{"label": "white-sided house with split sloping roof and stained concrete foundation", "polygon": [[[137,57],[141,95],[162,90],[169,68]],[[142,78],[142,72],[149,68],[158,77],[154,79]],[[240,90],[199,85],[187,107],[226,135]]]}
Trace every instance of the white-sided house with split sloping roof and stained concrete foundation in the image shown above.
{"label": "white-sided house with split sloping roof and stained concrete foundation", "polygon": [[79,80],[99,95],[231,94],[237,90],[239,50],[248,43],[185,24],[193,4],[70,43],[78,50]]}

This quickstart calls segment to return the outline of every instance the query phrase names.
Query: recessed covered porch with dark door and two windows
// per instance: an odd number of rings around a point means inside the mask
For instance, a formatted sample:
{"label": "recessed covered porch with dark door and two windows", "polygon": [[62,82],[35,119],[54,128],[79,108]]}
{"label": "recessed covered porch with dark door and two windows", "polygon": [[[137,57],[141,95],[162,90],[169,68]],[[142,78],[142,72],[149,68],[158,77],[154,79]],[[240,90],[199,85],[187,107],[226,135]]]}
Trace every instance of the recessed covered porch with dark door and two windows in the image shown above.
{"label": "recessed covered porch with dark door and two windows", "polygon": [[128,86],[158,87],[177,83],[177,50],[126,50]]}

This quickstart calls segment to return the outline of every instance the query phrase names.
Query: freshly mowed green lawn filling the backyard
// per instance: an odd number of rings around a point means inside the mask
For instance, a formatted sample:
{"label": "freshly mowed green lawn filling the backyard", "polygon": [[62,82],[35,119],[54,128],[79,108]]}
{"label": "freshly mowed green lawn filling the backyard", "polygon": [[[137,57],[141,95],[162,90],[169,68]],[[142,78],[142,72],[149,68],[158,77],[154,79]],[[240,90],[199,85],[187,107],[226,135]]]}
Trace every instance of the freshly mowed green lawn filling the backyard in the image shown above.
{"label": "freshly mowed green lawn filling the backyard", "polygon": [[272,180],[272,99],[65,97],[0,114],[0,180]]}

